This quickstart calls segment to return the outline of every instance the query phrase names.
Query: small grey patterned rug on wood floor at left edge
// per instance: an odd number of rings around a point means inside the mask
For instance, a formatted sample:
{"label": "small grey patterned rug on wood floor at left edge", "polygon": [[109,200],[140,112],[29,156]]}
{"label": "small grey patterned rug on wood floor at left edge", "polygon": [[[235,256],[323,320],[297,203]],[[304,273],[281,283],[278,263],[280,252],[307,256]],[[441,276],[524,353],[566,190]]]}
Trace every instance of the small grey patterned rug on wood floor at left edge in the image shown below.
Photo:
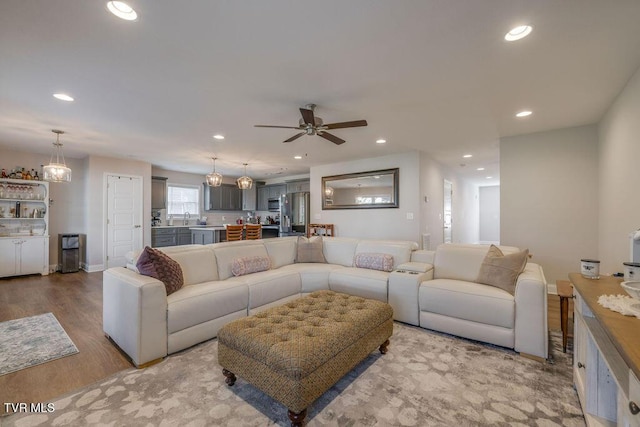
{"label": "small grey patterned rug on wood floor at left edge", "polygon": [[0,375],[77,352],[53,313],[0,322]]}

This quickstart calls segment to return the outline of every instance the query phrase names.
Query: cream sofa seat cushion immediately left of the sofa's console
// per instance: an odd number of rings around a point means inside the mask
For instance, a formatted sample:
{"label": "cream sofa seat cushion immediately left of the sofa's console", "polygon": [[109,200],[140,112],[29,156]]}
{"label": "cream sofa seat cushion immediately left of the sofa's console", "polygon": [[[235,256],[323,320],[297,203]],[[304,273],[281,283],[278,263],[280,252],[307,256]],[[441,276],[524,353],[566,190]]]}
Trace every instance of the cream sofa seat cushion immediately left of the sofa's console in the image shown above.
{"label": "cream sofa seat cushion immediately left of the sofa's console", "polygon": [[386,271],[366,268],[339,268],[329,273],[329,289],[387,302],[389,274]]}

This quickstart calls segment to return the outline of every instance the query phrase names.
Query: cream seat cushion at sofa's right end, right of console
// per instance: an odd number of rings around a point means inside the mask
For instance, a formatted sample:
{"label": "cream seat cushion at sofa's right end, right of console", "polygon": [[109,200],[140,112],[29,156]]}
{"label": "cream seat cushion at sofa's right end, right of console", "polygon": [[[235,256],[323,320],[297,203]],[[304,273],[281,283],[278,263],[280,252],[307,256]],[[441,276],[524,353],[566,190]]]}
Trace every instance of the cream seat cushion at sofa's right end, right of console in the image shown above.
{"label": "cream seat cushion at sofa's right end, right of console", "polygon": [[418,303],[420,311],[503,328],[515,326],[513,295],[493,286],[452,279],[427,280],[420,285]]}

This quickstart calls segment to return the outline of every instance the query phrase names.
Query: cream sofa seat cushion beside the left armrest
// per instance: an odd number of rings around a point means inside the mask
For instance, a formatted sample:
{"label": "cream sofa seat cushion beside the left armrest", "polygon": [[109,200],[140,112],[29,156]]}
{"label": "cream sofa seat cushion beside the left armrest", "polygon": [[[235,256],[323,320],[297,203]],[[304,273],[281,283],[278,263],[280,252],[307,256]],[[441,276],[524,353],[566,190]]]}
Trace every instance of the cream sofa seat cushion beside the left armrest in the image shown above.
{"label": "cream sofa seat cushion beside the left armrest", "polygon": [[227,280],[185,286],[167,298],[167,329],[170,334],[247,310],[249,287]]}

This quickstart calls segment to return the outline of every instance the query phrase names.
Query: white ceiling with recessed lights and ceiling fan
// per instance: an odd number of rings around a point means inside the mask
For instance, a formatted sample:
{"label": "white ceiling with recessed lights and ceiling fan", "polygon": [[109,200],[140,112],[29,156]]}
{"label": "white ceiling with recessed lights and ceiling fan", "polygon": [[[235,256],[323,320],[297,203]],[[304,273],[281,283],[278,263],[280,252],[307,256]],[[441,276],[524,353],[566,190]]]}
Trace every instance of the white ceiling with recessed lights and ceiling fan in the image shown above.
{"label": "white ceiling with recessed lights and ceiling fan", "polygon": [[[487,184],[500,137],[597,122],[640,65],[638,0],[130,0],[136,22],[105,4],[0,2],[0,146],[49,155],[56,128],[67,157],[205,174],[215,154],[256,178],[419,149]],[[253,127],[307,103],[369,126],[341,146]]]}

